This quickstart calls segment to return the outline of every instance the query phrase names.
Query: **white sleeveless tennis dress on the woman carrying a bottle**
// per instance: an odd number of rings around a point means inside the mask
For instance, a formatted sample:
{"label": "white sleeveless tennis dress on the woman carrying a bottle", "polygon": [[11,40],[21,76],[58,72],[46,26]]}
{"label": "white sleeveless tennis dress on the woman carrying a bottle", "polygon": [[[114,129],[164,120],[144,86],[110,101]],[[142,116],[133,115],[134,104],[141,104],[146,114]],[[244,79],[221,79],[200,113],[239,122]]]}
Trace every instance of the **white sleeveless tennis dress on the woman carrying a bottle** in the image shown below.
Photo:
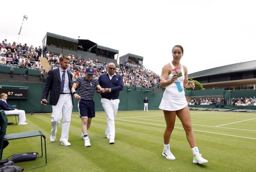
{"label": "white sleeveless tennis dress on the woman carrying a bottle", "polygon": [[[172,63],[171,67],[174,69],[174,65]],[[178,81],[181,83],[181,87],[183,88],[182,92],[178,92],[178,89],[175,85],[175,83],[172,83],[171,85],[167,86],[165,89],[165,92],[162,97],[162,101],[159,105],[159,109],[162,110],[169,110],[169,111],[175,111],[175,110],[180,110],[183,109],[187,106],[187,101],[185,97],[185,91],[184,91],[184,86],[183,86],[183,81],[185,79],[184,76],[184,70],[183,66],[181,65],[181,72],[182,76],[178,78]],[[168,75],[167,80],[170,80],[172,78],[172,74]]]}

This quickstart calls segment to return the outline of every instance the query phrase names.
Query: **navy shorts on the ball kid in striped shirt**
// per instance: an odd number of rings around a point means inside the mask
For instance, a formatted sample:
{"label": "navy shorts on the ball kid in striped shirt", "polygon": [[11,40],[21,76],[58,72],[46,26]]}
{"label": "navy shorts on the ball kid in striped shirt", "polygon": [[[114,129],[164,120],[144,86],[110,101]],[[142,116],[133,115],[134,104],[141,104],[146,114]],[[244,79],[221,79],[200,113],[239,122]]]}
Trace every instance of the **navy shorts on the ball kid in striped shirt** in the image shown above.
{"label": "navy shorts on the ball kid in striped shirt", "polygon": [[80,100],[78,102],[80,117],[95,117],[95,104],[93,100]]}

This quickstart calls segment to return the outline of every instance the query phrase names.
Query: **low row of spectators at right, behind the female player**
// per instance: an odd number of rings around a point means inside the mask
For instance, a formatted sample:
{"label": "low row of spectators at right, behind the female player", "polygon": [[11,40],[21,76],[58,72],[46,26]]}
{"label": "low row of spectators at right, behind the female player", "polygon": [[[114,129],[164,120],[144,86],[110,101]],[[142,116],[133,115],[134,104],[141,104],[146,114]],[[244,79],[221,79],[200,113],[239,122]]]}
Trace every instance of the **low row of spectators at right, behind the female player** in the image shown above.
{"label": "low row of spectators at right, behind the female player", "polygon": [[[191,99],[190,102],[188,102],[188,104],[190,105],[209,105],[209,104],[226,104],[226,99],[224,97],[222,97],[222,99],[220,98],[200,98],[198,101],[196,98]],[[231,99],[231,101],[229,102],[228,105],[236,105],[236,106],[256,106],[256,99],[255,97],[245,97],[245,98],[237,98],[235,99],[234,97]]]}

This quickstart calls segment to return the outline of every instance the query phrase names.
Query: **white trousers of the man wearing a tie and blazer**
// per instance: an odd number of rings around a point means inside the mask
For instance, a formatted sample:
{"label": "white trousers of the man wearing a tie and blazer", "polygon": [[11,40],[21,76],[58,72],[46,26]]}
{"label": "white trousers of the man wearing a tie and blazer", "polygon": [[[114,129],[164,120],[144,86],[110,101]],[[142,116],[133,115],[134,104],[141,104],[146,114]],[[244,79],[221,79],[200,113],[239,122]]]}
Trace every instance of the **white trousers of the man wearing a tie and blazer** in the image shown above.
{"label": "white trousers of the man wearing a tie and blazer", "polygon": [[68,141],[69,138],[69,126],[72,114],[72,97],[71,94],[60,94],[59,101],[57,105],[52,105],[52,131],[51,135],[56,136],[57,127],[62,119],[62,133],[60,136],[60,141]]}

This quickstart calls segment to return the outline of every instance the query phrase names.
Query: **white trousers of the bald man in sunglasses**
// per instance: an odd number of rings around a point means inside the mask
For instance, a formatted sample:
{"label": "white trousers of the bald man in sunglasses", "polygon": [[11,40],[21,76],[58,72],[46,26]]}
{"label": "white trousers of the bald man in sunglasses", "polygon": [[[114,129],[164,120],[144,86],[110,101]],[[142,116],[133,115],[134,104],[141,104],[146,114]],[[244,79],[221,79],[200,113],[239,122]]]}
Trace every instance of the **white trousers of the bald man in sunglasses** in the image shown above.
{"label": "white trousers of the bald man in sunglasses", "polygon": [[119,102],[119,99],[109,100],[106,98],[101,98],[102,107],[105,110],[107,117],[107,127],[105,130],[105,136],[108,139],[115,138],[114,120],[116,119]]}

